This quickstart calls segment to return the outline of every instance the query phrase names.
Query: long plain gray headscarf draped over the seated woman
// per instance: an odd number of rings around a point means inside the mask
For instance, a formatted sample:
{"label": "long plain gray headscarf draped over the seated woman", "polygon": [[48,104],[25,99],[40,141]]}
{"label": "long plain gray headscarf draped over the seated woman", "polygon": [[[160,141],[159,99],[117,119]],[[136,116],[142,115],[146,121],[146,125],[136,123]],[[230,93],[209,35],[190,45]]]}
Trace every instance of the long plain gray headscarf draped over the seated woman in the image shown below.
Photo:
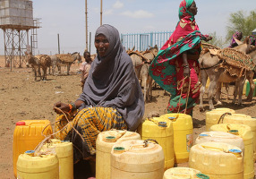
{"label": "long plain gray headscarf draped over the seated woman", "polygon": [[103,34],[108,42],[106,55],[97,57],[91,64],[83,92],[78,100],[83,107],[115,107],[124,117],[128,130],[135,131],[144,115],[144,99],[140,83],[119,38],[119,32],[111,25],[102,25],[95,37]]}

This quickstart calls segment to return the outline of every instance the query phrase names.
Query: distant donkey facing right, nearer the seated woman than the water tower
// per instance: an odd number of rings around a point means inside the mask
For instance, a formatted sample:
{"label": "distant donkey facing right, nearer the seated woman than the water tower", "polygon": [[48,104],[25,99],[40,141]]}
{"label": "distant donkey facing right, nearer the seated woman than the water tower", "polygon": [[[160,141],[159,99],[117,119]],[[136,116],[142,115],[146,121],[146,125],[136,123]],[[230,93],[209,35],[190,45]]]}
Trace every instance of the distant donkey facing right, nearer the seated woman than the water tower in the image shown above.
{"label": "distant donkey facing right, nearer the seated woman than the water tower", "polygon": [[76,60],[81,63],[81,55],[79,52],[74,52],[73,54],[52,55],[51,59],[53,61],[53,72],[55,71],[56,66],[59,73],[61,73],[61,66],[67,66],[67,75],[69,75],[70,67]]}

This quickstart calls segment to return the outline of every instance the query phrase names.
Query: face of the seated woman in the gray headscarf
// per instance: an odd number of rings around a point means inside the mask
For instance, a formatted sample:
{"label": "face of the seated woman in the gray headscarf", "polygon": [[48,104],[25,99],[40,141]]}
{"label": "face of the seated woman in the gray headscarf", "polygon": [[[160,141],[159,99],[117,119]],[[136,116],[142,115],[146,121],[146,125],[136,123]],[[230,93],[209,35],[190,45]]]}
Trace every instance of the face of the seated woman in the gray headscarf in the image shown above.
{"label": "face of the seated woman in the gray headscarf", "polygon": [[103,57],[106,55],[109,42],[103,34],[98,34],[98,36],[95,38],[94,45],[98,51],[99,56]]}

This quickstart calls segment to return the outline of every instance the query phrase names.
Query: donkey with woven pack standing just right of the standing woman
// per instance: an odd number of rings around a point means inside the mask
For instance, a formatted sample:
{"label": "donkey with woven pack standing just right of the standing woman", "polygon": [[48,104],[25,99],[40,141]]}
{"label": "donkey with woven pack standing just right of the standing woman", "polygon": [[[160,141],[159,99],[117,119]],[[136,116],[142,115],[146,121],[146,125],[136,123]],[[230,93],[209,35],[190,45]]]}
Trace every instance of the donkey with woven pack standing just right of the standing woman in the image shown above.
{"label": "donkey with woven pack standing just right of the standing woman", "polygon": [[[235,49],[242,51],[244,53],[248,53],[250,50],[250,43],[249,38],[245,38],[243,44],[235,47]],[[205,92],[205,86],[207,81],[207,76],[209,76],[209,109],[214,109],[212,103],[212,96],[213,92],[216,89],[217,82],[231,82],[236,81],[236,86],[239,87],[239,99],[238,105],[242,104],[242,95],[243,95],[243,83],[246,78],[249,78],[251,81],[252,78],[252,71],[245,72],[245,75],[241,76],[240,78],[236,76],[231,76],[227,72],[225,72],[224,68],[218,68],[219,64],[221,64],[221,60],[218,58],[218,55],[211,55],[209,52],[201,55],[199,59],[199,63],[201,65],[201,95],[200,95],[200,110],[203,111],[203,94]],[[253,83],[253,82],[252,82]],[[251,82],[250,82],[251,84]],[[251,85],[252,87],[252,85]],[[235,98],[237,96],[237,88],[235,90]],[[235,98],[233,103],[235,103]],[[217,90],[217,100],[219,99],[219,91]]]}

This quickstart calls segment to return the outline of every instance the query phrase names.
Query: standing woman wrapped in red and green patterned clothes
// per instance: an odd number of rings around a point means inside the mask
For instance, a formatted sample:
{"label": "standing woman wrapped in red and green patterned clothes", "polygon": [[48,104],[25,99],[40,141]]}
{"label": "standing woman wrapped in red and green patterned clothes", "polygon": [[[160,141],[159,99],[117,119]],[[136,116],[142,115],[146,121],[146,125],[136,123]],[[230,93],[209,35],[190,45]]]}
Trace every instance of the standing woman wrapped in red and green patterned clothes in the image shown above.
{"label": "standing woman wrapped in red and green patterned clothes", "polygon": [[171,93],[168,113],[192,115],[192,108],[200,96],[198,79],[200,67],[201,34],[194,16],[197,6],[193,0],[183,0],[179,7],[179,19],[174,33],[160,49],[149,66],[149,74],[164,90]]}

